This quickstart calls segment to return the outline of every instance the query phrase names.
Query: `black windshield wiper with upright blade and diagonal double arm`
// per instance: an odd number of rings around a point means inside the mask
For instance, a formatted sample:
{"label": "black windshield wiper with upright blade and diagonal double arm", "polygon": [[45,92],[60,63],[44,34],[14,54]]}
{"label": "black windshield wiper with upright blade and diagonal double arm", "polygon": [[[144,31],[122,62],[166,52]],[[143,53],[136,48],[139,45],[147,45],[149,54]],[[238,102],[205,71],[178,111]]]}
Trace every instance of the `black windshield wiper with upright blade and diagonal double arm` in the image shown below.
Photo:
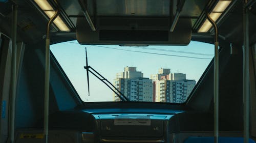
{"label": "black windshield wiper with upright blade and diagonal double arm", "polygon": [[[86,48],[86,66],[83,67],[87,71],[87,82],[88,82],[88,96],[90,96],[90,85],[89,85],[89,72],[96,76],[100,81],[106,84],[122,101],[130,101],[126,96],[123,95],[108,79],[103,77],[100,73],[94,70],[91,66],[88,66],[87,48]],[[90,70],[91,69],[91,70]],[[94,73],[95,72],[95,73]],[[112,87],[112,88],[111,88]],[[114,90],[114,89],[116,90]]]}

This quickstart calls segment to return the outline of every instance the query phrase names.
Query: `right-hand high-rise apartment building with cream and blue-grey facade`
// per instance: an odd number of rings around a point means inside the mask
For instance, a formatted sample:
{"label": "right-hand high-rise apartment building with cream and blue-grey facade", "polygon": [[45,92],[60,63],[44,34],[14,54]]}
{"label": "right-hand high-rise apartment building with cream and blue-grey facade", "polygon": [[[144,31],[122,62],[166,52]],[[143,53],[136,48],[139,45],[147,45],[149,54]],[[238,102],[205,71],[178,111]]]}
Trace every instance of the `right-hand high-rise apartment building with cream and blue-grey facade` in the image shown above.
{"label": "right-hand high-rise apartment building with cream and blue-grey facade", "polygon": [[196,85],[196,80],[186,79],[186,74],[170,73],[169,69],[159,69],[151,79],[155,102],[183,103]]}

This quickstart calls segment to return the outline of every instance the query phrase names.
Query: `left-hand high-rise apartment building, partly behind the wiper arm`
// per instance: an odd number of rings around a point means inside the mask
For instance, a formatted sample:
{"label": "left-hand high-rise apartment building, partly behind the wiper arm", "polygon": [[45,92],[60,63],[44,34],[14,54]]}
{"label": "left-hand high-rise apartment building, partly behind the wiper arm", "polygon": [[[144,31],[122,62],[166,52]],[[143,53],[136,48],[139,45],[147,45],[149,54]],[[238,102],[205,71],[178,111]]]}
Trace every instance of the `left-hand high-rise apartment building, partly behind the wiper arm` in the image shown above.
{"label": "left-hand high-rise apartment building, partly behind the wiper arm", "polygon": [[[114,85],[130,101],[153,101],[152,80],[143,78],[143,73],[136,71],[136,67],[125,67],[123,73],[117,74]],[[120,101],[115,93],[114,101]]]}

